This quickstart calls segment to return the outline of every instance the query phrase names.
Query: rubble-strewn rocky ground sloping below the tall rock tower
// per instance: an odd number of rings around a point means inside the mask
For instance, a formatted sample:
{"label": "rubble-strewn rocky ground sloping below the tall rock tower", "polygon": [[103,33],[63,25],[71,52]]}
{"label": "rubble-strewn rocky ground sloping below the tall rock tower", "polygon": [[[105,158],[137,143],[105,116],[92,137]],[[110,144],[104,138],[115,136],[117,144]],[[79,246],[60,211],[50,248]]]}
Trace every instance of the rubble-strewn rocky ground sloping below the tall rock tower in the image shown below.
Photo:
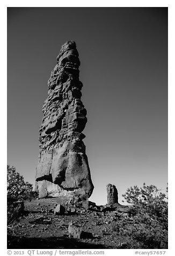
{"label": "rubble-strewn rocky ground sloping below the tall rock tower", "polygon": [[[115,223],[127,215],[129,207],[91,205],[88,210],[55,215],[56,206],[57,198],[26,201],[24,215],[8,225],[8,248],[122,248],[125,244],[126,237],[118,235]],[[75,238],[68,232],[70,223],[90,236]]]}

